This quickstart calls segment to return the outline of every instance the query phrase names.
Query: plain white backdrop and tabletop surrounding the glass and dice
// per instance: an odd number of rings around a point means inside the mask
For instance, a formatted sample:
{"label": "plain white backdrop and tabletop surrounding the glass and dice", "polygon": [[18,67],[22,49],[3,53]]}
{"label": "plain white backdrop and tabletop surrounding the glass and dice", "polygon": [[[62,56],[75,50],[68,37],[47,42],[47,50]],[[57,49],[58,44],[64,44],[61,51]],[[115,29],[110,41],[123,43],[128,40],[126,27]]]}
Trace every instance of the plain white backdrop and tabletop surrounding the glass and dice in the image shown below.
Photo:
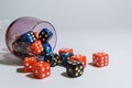
{"label": "plain white backdrop and tabletop surrounding the glass and dice", "polygon": [[[20,16],[51,22],[58,36],[55,52],[73,47],[75,54],[87,56],[84,75],[65,77],[66,69],[58,66],[42,80],[22,73],[21,61],[4,50],[6,26]],[[132,88],[131,0],[0,0],[0,36],[1,88]],[[95,52],[109,53],[110,65],[91,66]]]}

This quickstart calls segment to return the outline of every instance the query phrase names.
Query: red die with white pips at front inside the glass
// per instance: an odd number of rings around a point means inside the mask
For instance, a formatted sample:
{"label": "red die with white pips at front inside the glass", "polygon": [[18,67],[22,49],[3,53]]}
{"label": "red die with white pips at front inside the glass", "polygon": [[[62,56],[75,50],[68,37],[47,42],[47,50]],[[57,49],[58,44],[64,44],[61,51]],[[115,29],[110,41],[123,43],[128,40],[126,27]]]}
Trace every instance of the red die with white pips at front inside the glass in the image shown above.
{"label": "red die with white pips at front inside the glass", "polygon": [[38,55],[44,51],[42,43],[38,40],[31,44],[31,48],[35,55]]}

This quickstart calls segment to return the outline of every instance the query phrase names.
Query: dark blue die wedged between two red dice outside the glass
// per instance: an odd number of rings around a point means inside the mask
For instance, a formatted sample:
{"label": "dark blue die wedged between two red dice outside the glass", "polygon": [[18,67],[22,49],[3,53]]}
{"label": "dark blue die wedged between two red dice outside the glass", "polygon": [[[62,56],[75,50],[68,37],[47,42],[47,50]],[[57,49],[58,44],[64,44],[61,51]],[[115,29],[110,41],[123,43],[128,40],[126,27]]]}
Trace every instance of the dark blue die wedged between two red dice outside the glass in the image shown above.
{"label": "dark blue die wedged between two red dice outside the glass", "polygon": [[61,63],[63,66],[67,66],[69,57],[72,57],[74,54],[73,53],[62,53],[61,54]]}

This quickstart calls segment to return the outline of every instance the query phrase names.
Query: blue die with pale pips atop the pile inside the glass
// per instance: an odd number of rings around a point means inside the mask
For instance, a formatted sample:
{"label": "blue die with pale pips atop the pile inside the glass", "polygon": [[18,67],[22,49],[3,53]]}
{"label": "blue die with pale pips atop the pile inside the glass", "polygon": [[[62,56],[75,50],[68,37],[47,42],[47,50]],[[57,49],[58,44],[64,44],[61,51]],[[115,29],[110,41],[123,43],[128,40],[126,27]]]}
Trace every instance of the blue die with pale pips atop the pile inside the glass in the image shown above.
{"label": "blue die with pale pips atop the pile inside the glass", "polygon": [[31,44],[35,42],[35,35],[32,31],[29,31],[20,36],[21,42],[25,42],[26,44]]}

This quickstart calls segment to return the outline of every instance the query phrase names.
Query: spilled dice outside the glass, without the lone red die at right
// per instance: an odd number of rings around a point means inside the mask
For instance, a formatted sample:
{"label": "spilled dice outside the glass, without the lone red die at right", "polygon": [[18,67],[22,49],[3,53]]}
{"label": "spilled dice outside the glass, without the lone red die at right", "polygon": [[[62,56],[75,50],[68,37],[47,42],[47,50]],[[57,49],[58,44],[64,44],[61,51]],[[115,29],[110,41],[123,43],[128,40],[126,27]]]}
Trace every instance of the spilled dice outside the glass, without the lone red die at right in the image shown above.
{"label": "spilled dice outside the glass, without the lone red die at right", "polygon": [[61,48],[58,54],[50,53],[44,55],[43,61],[37,62],[36,57],[24,58],[24,72],[33,73],[40,79],[51,75],[51,67],[64,66],[69,77],[79,77],[86,67],[85,55],[74,55],[73,48]]}

